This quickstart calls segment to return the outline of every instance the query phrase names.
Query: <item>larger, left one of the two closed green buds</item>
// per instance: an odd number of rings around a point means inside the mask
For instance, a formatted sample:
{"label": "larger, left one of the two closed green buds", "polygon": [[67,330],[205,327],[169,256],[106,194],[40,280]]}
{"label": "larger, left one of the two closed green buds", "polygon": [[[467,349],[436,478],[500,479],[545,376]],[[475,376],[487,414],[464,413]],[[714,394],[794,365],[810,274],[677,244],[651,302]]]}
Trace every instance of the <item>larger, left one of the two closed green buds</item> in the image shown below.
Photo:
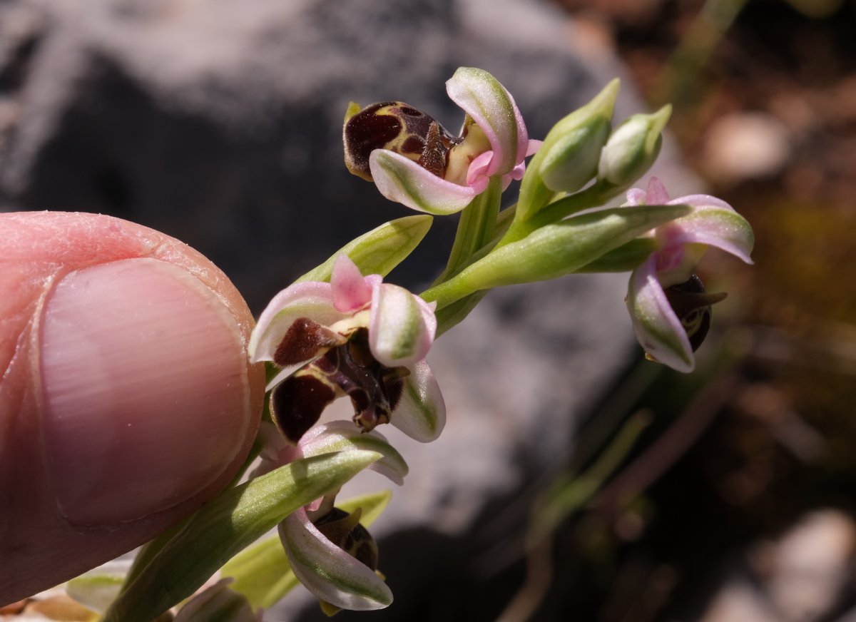
{"label": "larger, left one of the two closed green buds", "polygon": [[575,193],[597,175],[619,80],[616,78],[588,104],[556,123],[532,163],[544,185],[555,193]]}

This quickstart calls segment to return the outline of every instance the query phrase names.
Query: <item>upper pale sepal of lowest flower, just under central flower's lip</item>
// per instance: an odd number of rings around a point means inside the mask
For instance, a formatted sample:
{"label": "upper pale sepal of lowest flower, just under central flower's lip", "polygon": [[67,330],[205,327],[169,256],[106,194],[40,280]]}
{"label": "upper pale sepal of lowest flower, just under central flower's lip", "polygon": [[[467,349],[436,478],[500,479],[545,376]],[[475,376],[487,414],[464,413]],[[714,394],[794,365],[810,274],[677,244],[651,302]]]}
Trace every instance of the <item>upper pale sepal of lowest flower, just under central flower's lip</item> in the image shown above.
{"label": "upper pale sepal of lowest flower, just under central flower's lip", "polygon": [[375,430],[363,432],[351,421],[333,421],[330,424],[318,425],[300,439],[298,447],[303,458],[348,449],[377,452],[382,457],[368,467],[371,471],[389,477],[399,486],[407,476],[407,462],[395,447],[389,445],[385,436]]}

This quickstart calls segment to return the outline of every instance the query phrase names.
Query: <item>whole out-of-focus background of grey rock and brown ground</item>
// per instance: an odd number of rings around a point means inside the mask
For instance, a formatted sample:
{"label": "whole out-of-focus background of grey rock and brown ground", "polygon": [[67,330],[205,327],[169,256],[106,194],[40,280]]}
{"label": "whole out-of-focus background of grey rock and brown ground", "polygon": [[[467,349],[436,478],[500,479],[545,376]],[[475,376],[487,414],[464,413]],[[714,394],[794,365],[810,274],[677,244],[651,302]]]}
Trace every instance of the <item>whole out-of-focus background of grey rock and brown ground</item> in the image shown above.
{"label": "whole out-of-focus background of grey rock and brown ground", "polygon": [[[692,376],[641,358],[626,275],[491,293],[431,354],[443,437],[389,434],[396,601],[340,617],[856,619],[853,0],[2,0],[0,210],[158,228],[258,313],[406,215],[344,169],[348,101],[455,130],[460,65],[534,138],[615,75],[616,121],[672,102],[653,172],[733,204],[756,264],[705,258],[729,296]],[[454,229],[390,279],[425,285]],[[295,592],[270,619],[322,617]]]}

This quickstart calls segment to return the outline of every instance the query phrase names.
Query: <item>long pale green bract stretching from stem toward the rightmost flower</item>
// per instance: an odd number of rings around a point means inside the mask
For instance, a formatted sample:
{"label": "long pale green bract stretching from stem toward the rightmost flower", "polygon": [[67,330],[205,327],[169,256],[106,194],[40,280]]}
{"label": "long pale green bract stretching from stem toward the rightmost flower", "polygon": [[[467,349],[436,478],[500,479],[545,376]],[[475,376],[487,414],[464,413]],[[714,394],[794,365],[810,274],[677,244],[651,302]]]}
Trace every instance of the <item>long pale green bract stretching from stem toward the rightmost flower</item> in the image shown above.
{"label": "long pale green bract stretching from stem toward the rightmost flower", "polygon": [[[641,208],[641,209],[640,209]],[[574,216],[496,248],[422,297],[442,309],[481,289],[546,281],[571,274],[664,222],[690,213],[687,205],[618,207]]]}

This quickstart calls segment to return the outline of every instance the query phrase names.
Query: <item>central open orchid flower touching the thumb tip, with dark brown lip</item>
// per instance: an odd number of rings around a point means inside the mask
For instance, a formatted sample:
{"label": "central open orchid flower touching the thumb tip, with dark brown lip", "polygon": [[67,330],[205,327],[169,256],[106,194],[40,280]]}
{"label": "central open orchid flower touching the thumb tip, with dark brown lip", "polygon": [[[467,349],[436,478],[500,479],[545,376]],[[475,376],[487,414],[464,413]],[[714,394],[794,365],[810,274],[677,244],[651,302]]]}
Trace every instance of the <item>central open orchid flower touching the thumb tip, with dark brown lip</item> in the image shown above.
{"label": "central open orchid flower touching the thumb tip, with dark brown lip", "polygon": [[443,395],[425,355],[437,330],[434,304],[363,276],[341,255],[330,282],[294,283],[276,294],[250,338],[253,363],[279,368],[268,383],[277,427],[296,443],[324,408],[348,395],[354,423],[391,423],[417,441],[445,424]]}

